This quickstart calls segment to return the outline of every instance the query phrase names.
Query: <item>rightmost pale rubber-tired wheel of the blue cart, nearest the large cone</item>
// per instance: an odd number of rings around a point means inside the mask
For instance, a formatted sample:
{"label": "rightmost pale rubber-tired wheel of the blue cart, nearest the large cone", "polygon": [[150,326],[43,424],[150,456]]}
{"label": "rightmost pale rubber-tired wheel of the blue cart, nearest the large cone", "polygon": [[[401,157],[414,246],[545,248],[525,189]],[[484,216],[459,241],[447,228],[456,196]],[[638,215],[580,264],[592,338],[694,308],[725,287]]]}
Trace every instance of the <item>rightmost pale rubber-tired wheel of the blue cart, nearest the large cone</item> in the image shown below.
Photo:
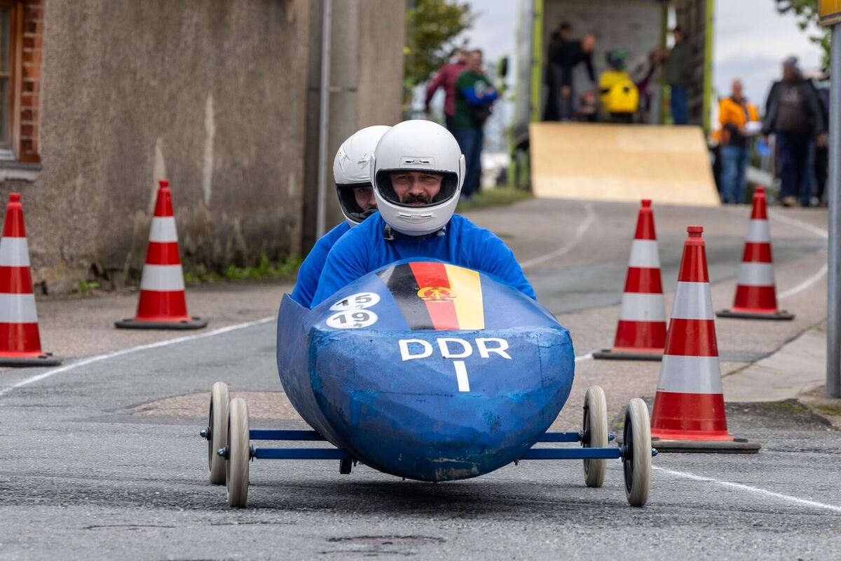
{"label": "rightmost pale rubber-tired wheel of the blue cart, nearest the large cone", "polygon": [[624,440],[627,453],[622,460],[625,496],[628,504],[644,506],[651,488],[651,420],[648,406],[638,397],[625,410]]}

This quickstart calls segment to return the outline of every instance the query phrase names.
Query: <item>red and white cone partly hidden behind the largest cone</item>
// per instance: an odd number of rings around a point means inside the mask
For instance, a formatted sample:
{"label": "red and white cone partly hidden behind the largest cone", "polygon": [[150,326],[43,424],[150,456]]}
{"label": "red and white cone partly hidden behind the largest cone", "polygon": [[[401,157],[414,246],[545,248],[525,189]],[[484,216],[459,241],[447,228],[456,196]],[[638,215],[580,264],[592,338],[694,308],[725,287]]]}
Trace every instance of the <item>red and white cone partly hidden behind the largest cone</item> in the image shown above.
{"label": "red and white cone partly hidden behind the largest cone", "polygon": [[594,352],[593,358],[660,360],[666,343],[665,307],[654,213],[651,200],[644,198],[631,244],[616,339],[613,348]]}

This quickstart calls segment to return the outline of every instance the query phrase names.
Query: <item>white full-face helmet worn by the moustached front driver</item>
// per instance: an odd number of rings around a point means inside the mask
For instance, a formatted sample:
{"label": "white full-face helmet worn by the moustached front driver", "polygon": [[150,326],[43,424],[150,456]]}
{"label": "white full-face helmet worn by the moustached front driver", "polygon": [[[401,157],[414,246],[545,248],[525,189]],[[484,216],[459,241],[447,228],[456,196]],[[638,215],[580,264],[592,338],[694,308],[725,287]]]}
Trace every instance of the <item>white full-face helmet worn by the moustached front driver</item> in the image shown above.
{"label": "white full-face helmet worn by the moustached front driver", "polygon": [[[391,184],[392,172],[442,174],[431,204],[402,204]],[[386,224],[406,236],[426,236],[450,221],[464,183],[464,156],[450,131],[426,120],[395,124],[380,139],[371,164],[373,194]]]}

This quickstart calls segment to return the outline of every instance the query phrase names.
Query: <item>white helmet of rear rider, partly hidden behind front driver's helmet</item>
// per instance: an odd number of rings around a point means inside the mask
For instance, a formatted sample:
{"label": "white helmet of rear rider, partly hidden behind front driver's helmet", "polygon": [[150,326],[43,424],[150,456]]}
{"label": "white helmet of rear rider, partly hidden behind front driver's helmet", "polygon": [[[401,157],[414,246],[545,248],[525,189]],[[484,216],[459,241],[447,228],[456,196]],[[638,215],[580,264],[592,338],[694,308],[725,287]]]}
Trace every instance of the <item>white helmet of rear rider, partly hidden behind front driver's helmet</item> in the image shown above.
{"label": "white helmet of rear rider, partly hidden behind front driver's helmet", "polygon": [[377,209],[363,210],[357,204],[354,189],[371,187],[371,170],[368,169],[371,155],[379,139],[390,128],[378,124],[357,130],[342,142],[339,151],[336,152],[336,159],[333,160],[333,179],[336,181],[341,214],[345,215],[345,220],[351,227],[361,224],[362,220],[377,212]]}

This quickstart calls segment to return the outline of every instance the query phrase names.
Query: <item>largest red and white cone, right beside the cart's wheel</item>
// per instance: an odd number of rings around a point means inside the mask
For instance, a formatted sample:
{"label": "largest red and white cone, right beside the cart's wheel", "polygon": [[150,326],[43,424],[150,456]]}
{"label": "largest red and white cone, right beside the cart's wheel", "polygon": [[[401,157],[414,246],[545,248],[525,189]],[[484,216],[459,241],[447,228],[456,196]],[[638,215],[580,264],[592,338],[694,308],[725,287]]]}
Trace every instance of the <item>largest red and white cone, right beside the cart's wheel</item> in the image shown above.
{"label": "largest red and white cone, right beside the cart's wheel", "polygon": [[661,451],[756,452],[727,432],[703,226],[689,226],[651,415]]}

